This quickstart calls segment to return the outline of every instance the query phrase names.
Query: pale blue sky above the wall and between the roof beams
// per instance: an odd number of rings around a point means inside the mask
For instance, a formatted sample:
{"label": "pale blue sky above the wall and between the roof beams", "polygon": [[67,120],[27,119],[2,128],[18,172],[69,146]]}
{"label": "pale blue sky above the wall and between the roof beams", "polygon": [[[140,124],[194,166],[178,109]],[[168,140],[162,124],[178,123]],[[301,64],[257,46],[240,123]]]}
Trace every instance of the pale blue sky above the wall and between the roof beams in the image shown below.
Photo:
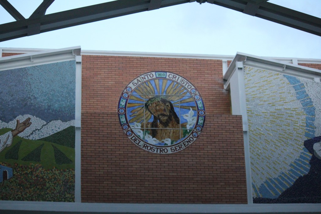
{"label": "pale blue sky above the wall and between the roof beams", "polygon": [[[9,0],[24,17],[41,0]],[[89,2],[89,3],[88,3]],[[56,0],[47,13],[99,4],[103,0]],[[270,3],[321,16],[319,0]],[[0,23],[14,19],[0,7]],[[186,3],[0,42],[0,47],[65,48],[321,58],[321,37],[213,4]]]}

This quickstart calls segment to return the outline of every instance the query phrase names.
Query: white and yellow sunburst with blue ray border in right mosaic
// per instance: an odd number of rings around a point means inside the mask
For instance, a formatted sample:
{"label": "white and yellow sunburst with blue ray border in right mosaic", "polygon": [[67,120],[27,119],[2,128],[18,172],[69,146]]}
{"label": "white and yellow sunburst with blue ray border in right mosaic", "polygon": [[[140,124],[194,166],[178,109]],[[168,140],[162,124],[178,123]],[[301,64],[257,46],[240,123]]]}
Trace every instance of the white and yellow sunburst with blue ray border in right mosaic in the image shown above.
{"label": "white and yellow sunburst with blue ray border in right mosaic", "polygon": [[272,71],[245,67],[244,76],[253,197],[275,199],[309,172],[303,142],[316,134],[312,89],[307,80]]}

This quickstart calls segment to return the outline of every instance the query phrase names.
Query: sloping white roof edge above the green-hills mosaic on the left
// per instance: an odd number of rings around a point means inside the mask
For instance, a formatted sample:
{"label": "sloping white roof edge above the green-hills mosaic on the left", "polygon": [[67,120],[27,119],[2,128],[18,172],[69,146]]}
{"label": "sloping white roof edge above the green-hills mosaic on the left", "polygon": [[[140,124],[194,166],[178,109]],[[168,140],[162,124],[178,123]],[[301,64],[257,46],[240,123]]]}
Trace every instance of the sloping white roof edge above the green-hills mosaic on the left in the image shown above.
{"label": "sloping white roof edge above the green-hills mosaic on the left", "polygon": [[76,46],[62,49],[50,49],[14,56],[6,56],[0,58],[0,71],[45,63],[47,64],[67,60],[75,60],[76,56],[80,56],[80,52],[81,47]]}

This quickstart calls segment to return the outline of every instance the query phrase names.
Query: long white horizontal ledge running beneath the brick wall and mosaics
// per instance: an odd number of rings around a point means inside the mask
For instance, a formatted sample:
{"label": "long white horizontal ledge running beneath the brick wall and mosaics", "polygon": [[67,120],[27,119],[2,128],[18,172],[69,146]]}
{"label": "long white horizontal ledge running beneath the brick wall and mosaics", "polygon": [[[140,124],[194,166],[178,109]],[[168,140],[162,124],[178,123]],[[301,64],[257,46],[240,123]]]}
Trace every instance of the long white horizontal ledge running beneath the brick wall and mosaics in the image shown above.
{"label": "long white horizontal ledge running beneath the brick wall and mosaics", "polygon": [[122,213],[319,212],[320,204],[128,204],[0,201],[3,210]]}

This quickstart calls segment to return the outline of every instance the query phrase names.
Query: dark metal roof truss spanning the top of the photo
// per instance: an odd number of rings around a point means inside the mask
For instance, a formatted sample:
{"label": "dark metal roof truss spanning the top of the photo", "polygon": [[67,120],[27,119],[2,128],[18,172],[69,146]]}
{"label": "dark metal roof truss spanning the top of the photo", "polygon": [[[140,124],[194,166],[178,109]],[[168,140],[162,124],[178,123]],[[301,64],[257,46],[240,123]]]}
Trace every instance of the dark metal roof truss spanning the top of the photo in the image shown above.
{"label": "dark metal roof truss spanning the top of the photo", "polygon": [[268,0],[117,0],[45,14],[54,0],[43,0],[25,19],[7,0],[0,4],[16,21],[0,25],[0,42],[178,4],[216,4],[248,15],[321,36],[321,19],[267,2]]}

